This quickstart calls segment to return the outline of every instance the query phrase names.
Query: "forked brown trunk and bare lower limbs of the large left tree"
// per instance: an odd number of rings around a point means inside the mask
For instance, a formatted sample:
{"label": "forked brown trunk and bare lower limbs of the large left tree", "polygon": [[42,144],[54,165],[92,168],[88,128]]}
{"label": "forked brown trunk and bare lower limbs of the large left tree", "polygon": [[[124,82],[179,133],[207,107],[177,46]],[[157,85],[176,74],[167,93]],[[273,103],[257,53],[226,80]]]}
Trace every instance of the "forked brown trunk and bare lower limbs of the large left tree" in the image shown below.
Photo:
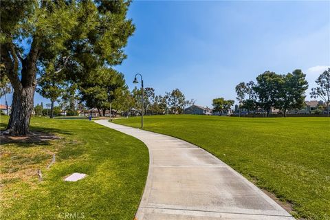
{"label": "forked brown trunk and bare lower limbs of the large left tree", "polygon": [[[14,43],[0,44],[1,63],[5,64],[5,74],[14,89],[12,113],[6,131],[10,135],[28,135],[29,133],[36,89],[36,63],[39,58],[39,42],[35,41],[33,37],[30,52],[24,59],[18,56],[19,52],[17,52]],[[21,76],[19,76],[20,69]]]}

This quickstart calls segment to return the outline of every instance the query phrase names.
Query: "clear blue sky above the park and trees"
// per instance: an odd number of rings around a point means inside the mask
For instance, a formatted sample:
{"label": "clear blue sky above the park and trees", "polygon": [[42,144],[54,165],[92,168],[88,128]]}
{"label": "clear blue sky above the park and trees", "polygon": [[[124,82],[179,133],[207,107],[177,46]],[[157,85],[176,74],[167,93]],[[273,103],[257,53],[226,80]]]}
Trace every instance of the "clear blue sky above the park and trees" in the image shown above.
{"label": "clear blue sky above the park and trees", "polygon": [[136,31],[115,69],[130,89],[140,73],[156,94],[179,88],[210,106],[266,70],[303,69],[310,90],[330,66],[330,1],[134,1],[129,17]]}

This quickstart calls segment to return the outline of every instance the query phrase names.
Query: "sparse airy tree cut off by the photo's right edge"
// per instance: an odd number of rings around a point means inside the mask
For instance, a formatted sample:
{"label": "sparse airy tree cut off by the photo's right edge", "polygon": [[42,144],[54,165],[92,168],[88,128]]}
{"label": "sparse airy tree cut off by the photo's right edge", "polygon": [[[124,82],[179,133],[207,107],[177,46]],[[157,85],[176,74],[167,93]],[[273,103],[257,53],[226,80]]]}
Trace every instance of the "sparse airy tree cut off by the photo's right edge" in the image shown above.
{"label": "sparse airy tree cut off by the photo's right edge", "polygon": [[327,105],[327,115],[329,117],[329,104],[330,104],[330,68],[325,70],[318,79],[315,81],[318,87],[311,89],[311,98],[322,98]]}

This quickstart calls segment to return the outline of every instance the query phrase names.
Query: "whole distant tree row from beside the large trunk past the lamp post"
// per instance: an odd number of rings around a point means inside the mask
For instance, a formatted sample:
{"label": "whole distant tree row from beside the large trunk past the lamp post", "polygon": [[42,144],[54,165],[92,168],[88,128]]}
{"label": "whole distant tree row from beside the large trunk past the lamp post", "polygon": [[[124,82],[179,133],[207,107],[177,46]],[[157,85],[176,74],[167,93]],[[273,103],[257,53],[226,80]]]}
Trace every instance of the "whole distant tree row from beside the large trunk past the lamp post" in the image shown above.
{"label": "whole distant tree row from beside the large trunk past the lamp post", "polygon": [[[43,108],[43,103],[34,107],[36,115],[59,115],[61,111],[66,111],[67,115],[76,115],[77,109],[83,110],[86,107],[98,109],[99,115],[105,115],[105,111],[111,108],[111,114],[124,113],[129,115],[132,112],[141,113],[142,91],[141,89],[129,89],[124,84],[122,74],[115,74],[117,77],[111,84],[111,80],[101,78],[93,85],[83,85],[78,90],[78,94],[74,96],[69,89],[53,88],[54,94],[50,111],[47,114],[47,108]],[[110,88],[110,87],[114,88]],[[45,89],[46,88],[46,89]],[[50,94],[48,87],[39,87],[39,91],[44,97]],[[47,93],[48,92],[48,93]],[[49,96],[46,96],[49,98]],[[59,107],[54,107],[54,101],[59,103]],[[183,113],[185,107],[194,104],[195,100],[186,100],[186,97],[179,89],[166,92],[163,96],[156,95],[155,89],[151,87],[144,88],[144,113],[148,115],[160,114],[179,114]],[[46,104],[47,105],[47,104]],[[60,109],[60,111],[58,111]]]}

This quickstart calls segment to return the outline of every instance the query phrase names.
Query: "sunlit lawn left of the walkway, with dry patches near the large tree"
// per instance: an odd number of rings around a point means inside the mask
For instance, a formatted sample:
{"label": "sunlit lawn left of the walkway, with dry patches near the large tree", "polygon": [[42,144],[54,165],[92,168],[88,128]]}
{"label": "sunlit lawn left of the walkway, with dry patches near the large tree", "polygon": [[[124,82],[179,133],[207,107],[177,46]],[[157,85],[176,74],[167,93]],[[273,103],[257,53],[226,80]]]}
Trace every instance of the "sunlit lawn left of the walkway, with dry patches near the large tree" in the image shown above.
{"label": "sunlit lawn left of the walkway, with dry patches near the large tree", "polygon": [[[7,122],[1,116],[1,129]],[[148,173],[142,142],[88,120],[32,118],[31,130],[61,140],[1,143],[0,219],[133,219]],[[87,177],[63,181],[74,172]]]}

